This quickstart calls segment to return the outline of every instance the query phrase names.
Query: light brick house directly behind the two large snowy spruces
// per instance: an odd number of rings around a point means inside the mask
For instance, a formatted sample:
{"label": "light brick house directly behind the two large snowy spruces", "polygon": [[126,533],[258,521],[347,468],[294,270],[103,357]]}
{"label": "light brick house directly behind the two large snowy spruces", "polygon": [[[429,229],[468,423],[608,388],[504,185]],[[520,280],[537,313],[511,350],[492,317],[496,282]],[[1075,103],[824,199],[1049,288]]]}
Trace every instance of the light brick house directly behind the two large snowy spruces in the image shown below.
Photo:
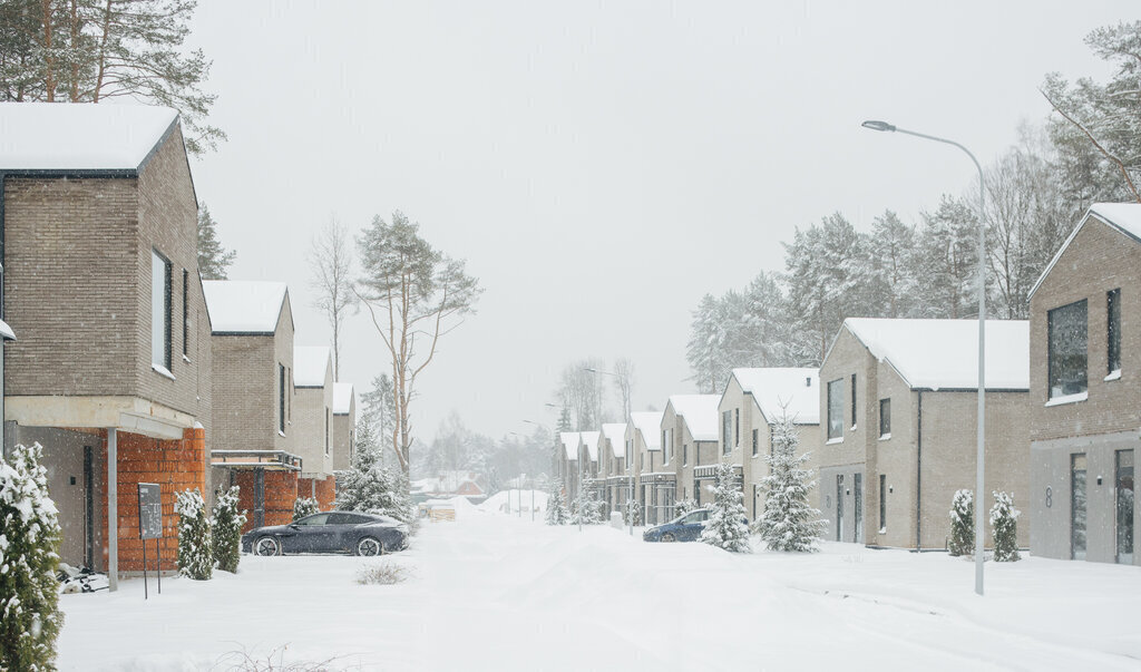
{"label": "light brick house directly behind the two large snowy spruces", "polygon": [[728,431],[727,421],[731,416],[733,434],[741,434],[739,450],[734,459],[741,460],[742,489],[750,520],[755,520],[763,510],[761,481],[769,473],[766,458],[772,454],[772,426],[785,413],[792,418],[800,437],[798,454],[809,455],[804,467],[816,469],[819,395],[817,369],[734,369],[730,373],[717,411],[723,419],[722,432]]}

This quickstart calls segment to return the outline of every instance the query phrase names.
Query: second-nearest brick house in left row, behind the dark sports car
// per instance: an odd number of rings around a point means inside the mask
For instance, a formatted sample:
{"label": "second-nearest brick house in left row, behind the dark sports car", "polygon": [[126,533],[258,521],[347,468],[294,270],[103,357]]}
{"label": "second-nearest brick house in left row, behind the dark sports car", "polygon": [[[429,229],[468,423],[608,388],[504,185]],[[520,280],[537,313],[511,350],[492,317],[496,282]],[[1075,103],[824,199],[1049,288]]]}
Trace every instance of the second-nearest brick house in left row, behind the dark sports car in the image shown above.
{"label": "second-nearest brick house in left row, behind the dark sports car", "polygon": [[213,480],[237,485],[245,529],[293,518],[293,310],[284,283],[204,281],[212,325]]}

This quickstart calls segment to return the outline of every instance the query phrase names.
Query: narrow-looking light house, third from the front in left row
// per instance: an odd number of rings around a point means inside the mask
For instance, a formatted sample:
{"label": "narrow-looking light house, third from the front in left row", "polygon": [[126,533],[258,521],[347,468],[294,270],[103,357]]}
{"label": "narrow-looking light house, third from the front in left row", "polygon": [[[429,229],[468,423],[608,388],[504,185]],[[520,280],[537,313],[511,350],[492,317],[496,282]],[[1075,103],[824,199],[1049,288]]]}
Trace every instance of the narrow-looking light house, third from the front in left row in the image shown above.
{"label": "narrow-looking light house, third from the front in left row", "polygon": [[298,495],[333,508],[333,355],[326,346],[293,348],[293,451],[301,458]]}

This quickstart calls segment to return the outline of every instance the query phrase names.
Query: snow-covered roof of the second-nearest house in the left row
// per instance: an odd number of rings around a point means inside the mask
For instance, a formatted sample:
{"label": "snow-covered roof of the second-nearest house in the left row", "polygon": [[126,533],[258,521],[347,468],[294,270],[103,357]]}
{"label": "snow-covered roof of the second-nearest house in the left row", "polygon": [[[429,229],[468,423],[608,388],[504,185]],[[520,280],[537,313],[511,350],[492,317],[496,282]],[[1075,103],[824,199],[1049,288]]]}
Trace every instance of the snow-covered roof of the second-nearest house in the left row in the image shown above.
{"label": "snow-covered roof of the second-nearest house in the left row", "polygon": [[204,280],[210,329],[213,333],[274,333],[288,291],[283,282]]}

